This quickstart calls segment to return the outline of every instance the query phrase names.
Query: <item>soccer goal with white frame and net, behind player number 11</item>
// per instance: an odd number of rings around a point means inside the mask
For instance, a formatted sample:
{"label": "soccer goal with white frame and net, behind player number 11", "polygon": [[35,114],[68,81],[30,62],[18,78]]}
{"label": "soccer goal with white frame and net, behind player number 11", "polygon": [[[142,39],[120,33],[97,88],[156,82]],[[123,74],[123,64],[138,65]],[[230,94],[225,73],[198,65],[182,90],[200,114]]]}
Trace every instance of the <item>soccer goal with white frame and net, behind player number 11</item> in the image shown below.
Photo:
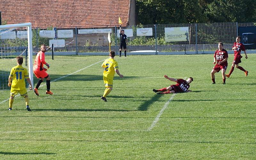
{"label": "soccer goal with white frame and net, behind player number 11", "polygon": [[31,23],[0,25],[0,90],[10,89],[8,78],[12,67],[17,65],[17,56],[23,57],[22,66],[28,69],[33,85]]}

